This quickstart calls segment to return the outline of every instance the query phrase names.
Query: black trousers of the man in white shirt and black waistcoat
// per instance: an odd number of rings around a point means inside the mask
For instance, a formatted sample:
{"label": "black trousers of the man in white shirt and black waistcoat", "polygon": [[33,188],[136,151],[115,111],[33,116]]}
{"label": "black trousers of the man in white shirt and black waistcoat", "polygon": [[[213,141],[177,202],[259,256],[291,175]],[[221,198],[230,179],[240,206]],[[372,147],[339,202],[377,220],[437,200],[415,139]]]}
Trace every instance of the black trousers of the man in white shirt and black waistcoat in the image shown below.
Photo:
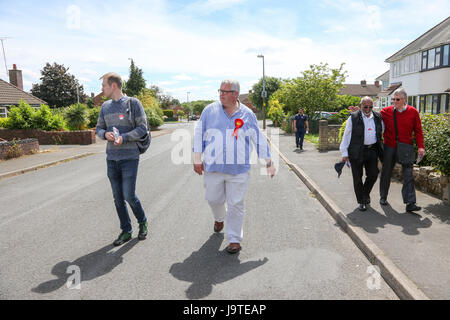
{"label": "black trousers of the man in white shirt and black waistcoat", "polygon": [[[370,192],[378,178],[378,156],[376,146],[371,148],[364,146],[363,159],[350,158],[353,176],[353,188],[355,189],[356,200],[359,204],[370,203]],[[363,183],[363,168],[366,170],[366,179]]]}

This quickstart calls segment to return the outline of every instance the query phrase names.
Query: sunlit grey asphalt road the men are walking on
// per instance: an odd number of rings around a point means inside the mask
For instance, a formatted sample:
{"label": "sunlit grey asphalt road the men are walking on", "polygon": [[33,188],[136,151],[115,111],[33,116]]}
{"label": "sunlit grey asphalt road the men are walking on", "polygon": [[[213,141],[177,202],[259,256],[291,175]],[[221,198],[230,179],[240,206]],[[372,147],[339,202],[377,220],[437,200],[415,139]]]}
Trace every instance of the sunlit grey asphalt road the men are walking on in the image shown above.
{"label": "sunlit grey asphalt road the men are walking on", "polygon": [[397,299],[284,163],[272,180],[253,166],[243,250],[226,253],[202,177],[172,162],[176,144],[158,137],[141,158],[149,236],[137,240],[132,217],[119,248],[105,155],[2,180],[0,299]]}

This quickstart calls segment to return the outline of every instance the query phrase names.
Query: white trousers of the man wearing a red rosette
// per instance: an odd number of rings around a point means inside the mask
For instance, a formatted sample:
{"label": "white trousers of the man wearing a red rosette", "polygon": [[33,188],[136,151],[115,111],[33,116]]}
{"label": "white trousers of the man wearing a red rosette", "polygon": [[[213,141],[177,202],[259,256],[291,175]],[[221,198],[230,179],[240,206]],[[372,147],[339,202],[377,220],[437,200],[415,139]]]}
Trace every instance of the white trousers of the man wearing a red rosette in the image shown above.
{"label": "white trousers of the man wearing a red rosette", "polygon": [[226,219],[228,242],[241,243],[244,235],[244,198],[250,171],[241,174],[205,171],[204,175],[205,198],[212,209],[214,220],[223,222]]}

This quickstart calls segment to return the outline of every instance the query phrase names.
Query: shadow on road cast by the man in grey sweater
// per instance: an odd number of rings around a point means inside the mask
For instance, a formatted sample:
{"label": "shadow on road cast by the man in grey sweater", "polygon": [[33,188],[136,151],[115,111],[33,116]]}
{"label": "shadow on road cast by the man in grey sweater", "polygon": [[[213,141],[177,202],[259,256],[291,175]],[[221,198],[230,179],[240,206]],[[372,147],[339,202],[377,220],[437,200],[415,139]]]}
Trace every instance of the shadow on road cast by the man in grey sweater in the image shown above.
{"label": "shadow on road cast by the man in grey sweater", "polygon": [[95,252],[80,257],[73,262],[58,262],[51,271],[52,275],[56,276],[57,279],[41,283],[36,288],[31,289],[31,291],[45,294],[58,290],[66,284],[68,278],[71,276],[70,273],[67,273],[67,268],[69,266],[77,266],[80,268],[81,282],[101,277],[121,264],[123,262],[122,256],[130,251],[138,242],[139,240],[134,238],[122,245],[117,251],[110,252],[115,248],[110,244]]}

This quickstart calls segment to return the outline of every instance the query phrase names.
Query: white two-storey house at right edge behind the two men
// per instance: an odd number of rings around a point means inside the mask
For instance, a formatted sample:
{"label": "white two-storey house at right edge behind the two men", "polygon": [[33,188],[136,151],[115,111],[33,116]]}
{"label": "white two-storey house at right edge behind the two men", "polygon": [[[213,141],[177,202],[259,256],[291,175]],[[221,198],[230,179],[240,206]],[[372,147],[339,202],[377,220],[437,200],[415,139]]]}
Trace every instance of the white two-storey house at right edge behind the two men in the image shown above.
{"label": "white two-storey house at right edge behind the two men", "polygon": [[449,112],[450,17],[385,62],[390,63],[390,90],[385,92],[383,106],[391,105],[393,91],[402,87],[408,93],[408,104],[419,112]]}

